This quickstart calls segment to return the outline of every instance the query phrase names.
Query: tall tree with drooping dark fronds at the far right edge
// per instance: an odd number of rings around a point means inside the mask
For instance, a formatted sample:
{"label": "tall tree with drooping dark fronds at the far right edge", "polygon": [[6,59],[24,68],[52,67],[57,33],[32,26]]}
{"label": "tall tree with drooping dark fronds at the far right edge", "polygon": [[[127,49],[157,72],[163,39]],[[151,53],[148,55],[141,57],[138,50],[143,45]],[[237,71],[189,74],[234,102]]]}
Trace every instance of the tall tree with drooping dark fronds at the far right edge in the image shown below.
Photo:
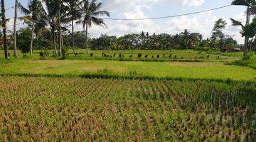
{"label": "tall tree with drooping dark fronds at the far right edge", "polygon": [[[255,0],[234,0],[231,3],[236,6],[247,6],[247,11],[246,11],[247,16],[246,16],[245,26],[250,23],[250,8],[254,6],[255,3],[256,3]],[[231,18],[231,21],[233,22],[233,26],[242,26],[242,23],[240,21],[235,21],[233,18]],[[249,42],[249,37],[246,35],[245,36],[245,54],[247,53],[247,50],[248,50],[248,42]]]}

